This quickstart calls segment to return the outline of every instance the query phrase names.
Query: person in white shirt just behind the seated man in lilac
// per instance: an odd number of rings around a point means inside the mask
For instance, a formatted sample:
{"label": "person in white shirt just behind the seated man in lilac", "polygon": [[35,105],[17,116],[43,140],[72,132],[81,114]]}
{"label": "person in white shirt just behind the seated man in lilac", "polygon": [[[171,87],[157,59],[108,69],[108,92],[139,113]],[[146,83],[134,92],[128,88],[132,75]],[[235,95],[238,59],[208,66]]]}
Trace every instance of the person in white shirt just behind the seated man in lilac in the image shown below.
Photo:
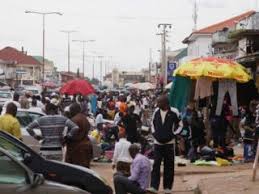
{"label": "person in white shirt just behind the seated man in lilac", "polygon": [[118,136],[120,138],[119,142],[115,144],[113,159],[112,159],[112,168],[114,169],[118,162],[130,163],[132,162],[132,158],[129,153],[129,147],[131,143],[126,139],[126,131],[125,128],[119,127]]}

